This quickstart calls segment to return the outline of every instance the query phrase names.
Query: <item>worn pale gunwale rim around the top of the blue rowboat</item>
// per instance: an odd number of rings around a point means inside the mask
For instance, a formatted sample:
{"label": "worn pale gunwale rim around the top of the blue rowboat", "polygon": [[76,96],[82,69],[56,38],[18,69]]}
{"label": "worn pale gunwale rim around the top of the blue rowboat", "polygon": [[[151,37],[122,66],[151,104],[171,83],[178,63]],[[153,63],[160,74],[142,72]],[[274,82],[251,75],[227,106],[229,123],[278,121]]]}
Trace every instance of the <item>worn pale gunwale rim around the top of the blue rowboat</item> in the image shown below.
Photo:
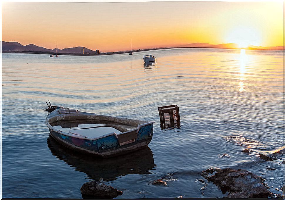
{"label": "worn pale gunwale rim around the top of the blue rowboat", "polygon": [[[51,113],[50,113],[51,114]],[[122,133],[118,133],[116,134],[115,132],[110,132],[108,134],[105,134],[105,135],[102,135],[102,136],[98,136],[98,137],[88,137],[88,136],[83,136],[83,135],[75,135],[73,133],[69,133],[69,132],[64,132],[64,131],[61,131],[61,130],[58,130],[56,128],[54,128],[52,125],[50,125],[49,123],[49,120],[51,118],[56,118],[58,116],[62,116],[62,115],[97,115],[97,114],[94,114],[94,113],[85,113],[85,112],[80,112],[80,113],[62,113],[62,114],[56,114],[56,115],[48,115],[46,117],[46,126],[51,130],[51,131],[54,131],[54,132],[57,132],[59,134],[62,134],[62,135],[65,135],[65,136],[68,136],[68,137],[73,137],[73,138],[78,138],[78,139],[88,139],[88,140],[97,140],[97,139],[100,139],[100,138],[104,138],[104,137],[108,137],[110,135],[115,135],[115,137],[118,139],[118,135],[122,135],[122,134],[125,134],[125,133],[128,133],[128,132],[132,132],[134,130],[137,130],[137,134],[140,130],[141,127],[143,126],[146,126],[146,125],[150,125],[150,124],[154,124],[155,122],[149,122],[149,121],[142,121],[142,122],[145,122],[143,124],[139,124],[137,126],[137,128],[134,128],[132,130],[128,130],[128,131],[125,131],[125,132],[122,132]],[[104,116],[104,117],[112,117],[112,118],[118,118],[118,119],[127,119],[127,120],[130,120],[128,118],[119,118],[119,117],[113,117],[113,116],[108,116],[108,115],[97,115],[97,116]],[[138,120],[138,121],[141,121],[141,120]]]}

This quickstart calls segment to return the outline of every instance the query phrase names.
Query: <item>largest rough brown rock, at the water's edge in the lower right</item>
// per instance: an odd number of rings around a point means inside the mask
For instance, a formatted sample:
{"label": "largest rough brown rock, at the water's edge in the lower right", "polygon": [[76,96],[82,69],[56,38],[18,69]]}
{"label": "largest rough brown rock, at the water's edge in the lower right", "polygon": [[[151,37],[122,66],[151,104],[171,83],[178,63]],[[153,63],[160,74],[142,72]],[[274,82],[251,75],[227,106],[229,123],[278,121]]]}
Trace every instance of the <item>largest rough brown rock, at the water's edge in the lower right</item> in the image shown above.
{"label": "largest rough brown rock, at the water's edge in the lower right", "polygon": [[210,176],[205,175],[206,171],[202,172],[202,176],[217,185],[223,194],[228,192],[227,198],[267,198],[271,194],[262,177],[247,170],[216,169],[216,173]]}

